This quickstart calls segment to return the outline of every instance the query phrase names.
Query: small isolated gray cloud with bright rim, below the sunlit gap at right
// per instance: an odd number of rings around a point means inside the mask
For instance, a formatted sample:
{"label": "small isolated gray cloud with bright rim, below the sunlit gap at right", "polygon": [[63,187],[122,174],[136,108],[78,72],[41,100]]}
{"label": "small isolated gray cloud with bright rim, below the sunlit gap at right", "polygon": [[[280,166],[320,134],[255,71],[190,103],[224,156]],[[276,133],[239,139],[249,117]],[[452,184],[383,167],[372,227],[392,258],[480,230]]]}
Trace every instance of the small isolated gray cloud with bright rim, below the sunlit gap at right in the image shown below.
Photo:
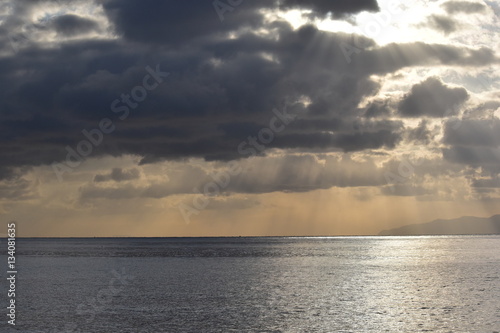
{"label": "small isolated gray cloud with bright rim, below the sunlit gap at right", "polygon": [[469,98],[464,88],[449,87],[436,77],[414,85],[399,104],[404,117],[442,118],[457,115],[458,108]]}

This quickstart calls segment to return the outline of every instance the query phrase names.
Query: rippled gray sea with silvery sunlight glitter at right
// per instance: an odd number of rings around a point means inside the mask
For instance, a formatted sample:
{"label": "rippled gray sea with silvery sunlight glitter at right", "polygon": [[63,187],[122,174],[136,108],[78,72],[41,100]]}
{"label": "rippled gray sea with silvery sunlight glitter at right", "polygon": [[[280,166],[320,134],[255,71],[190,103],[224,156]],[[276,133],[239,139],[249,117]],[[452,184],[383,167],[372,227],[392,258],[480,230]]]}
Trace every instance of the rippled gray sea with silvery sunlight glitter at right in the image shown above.
{"label": "rippled gray sea with silvery sunlight glitter at right", "polygon": [[500,331],[497,236],[21,239],[17,255],[26,333]]}

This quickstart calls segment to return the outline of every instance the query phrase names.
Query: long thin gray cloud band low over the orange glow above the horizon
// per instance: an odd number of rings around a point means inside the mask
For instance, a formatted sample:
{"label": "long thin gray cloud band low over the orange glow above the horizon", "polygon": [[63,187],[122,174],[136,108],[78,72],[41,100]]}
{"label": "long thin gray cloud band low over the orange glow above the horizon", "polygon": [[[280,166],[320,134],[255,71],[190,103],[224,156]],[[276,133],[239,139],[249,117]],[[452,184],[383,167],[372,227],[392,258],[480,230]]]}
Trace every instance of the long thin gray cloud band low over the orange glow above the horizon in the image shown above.
{"label": "long thin gray cloud band low over the orange glow above the horizon", "polygon": [[[371,159],[355,161],[349,154],[342,158],[310,153],[275,155],[239,161],[237,165],[242,171],[233,176],[228,176],[228,167],[222,164],[214,169],[187,164],[182,169],[165,168],[169,171],[162,181],[148,181],[146,176],[147,185],[87,184],[80,189],[80,200],[160,199],[180,194],[201,194],[206,186],[210,194],[216,194],[212,198],[225,198],[230,194],[308,192],[332,187],[380,187],[383,195],[425,196],[436,194],[434,182],[429,182],[429,179],[456,177],[462,172],[462,168],[442,159],[426,159],[419,161],[419,166],[414,167],[410,177],[401,177],[395,184],[388,185],[387,172],[398,174],[400,164],[401,160],[396,158],[383,165],[377,165]],[[227,185],[216,185],[221,183]]]}

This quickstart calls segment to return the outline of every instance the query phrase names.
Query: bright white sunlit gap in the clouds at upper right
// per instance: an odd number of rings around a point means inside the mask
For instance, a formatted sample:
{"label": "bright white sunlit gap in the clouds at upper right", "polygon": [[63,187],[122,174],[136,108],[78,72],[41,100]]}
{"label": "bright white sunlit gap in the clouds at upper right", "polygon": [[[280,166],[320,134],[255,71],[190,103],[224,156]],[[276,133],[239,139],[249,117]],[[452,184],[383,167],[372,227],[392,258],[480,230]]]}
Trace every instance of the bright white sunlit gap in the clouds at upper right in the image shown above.
{"label": "bright white sunlit gap in the clouds at upper right", "polygon": [[[465,26],[463,32],[449,36],[426,28],[426,18],[433,15],[445,15],[443,4],[447,1],[413,0],[401,2],[394,0],[378,1],[379,12],[361,12],[348,17],[311,19],[310,11],[289,10],[280,12],[279,16],[290,22],[297,29],[304,24],[314,24],[319,29],[331,32],[358,34],[373,39],[378,45],[390,43],[443,43],[443,44],[474,44],[491,47],[492,43],[500,43],[498,16],[493,10],[485,9],[480,15],[456,14],[457,25]],[[481,2],[478,2],[481,3]],[[437,14],[435,14],[437,13]],[[485,31],[488,33],[485,34]]]}

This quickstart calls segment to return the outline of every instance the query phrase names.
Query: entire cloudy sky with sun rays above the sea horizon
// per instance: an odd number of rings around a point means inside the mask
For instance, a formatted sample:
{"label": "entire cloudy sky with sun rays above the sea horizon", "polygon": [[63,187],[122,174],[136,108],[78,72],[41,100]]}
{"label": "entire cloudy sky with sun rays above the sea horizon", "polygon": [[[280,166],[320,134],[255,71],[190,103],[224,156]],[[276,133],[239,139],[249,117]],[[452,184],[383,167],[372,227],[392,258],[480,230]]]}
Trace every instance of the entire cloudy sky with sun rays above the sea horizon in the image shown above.
{"label": "entire cloudy sky with sun rays above the sea horizon", "polygon": [[0,3],[18,236],[371,235],[500,213],[500,2]]}

